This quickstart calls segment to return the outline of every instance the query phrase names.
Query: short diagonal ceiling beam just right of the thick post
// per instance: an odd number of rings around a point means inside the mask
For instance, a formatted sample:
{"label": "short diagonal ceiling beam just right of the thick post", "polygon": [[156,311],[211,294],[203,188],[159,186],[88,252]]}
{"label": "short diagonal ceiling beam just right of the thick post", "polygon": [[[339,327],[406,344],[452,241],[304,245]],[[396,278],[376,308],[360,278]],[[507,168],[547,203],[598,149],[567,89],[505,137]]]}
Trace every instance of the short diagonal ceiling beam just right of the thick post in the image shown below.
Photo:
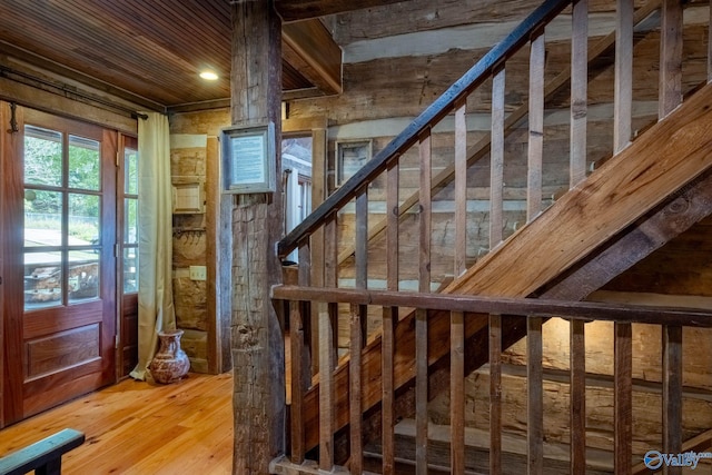
{"label": "short diagonal ceiling beam just right of the thick post", "polygon": [[319,20],[283,24],[283,58],[322,92],[342,92],[342,49]]}

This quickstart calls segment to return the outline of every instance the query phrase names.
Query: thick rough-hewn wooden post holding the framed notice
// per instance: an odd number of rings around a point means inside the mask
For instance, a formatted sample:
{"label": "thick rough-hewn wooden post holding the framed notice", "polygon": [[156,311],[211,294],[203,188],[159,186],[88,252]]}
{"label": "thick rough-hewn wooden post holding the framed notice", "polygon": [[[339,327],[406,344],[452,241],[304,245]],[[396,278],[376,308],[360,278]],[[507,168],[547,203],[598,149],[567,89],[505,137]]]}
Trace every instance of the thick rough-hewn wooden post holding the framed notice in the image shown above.
{"label": "thick rough-hewn wooden post holding the framed notice", "polygon": [[[280,142],[281,26],[271,1],[233,2],[231,121],[275,123]],[[275,171],[279,155],[270,157]],[[285,452],[285,355],[269,298],[281,280],[275,243],[283,234],[280,184],[274,194],[238,195],[233,208],[235,452],[233,473],[268,473]]]}

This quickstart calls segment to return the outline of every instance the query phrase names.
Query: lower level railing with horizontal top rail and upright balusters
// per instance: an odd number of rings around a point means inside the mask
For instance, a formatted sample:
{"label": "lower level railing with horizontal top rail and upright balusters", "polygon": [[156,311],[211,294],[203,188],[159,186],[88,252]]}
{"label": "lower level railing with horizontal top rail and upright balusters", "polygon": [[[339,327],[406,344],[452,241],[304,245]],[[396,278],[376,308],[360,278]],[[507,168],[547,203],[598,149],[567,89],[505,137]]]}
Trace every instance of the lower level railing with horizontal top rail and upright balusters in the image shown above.
{"label": "lower level railing with horizontal top rail and upright balusters", "polygon": [[[632,447],[632,414],[633,414],[633,372],[632,372],[632,350],[633,339],[630,330],[633,323],[647,325],[656,325],[662,328],[665,344],[663,345],[661,360],[661,379],[660,388],[663,394],[662,407],[666,408],[664,413],[668,415],[661,424],[661,436],[663,443],[661,445],[649,447],[661,454],[682,454],[683,448],[688,452],[691,449],[703,451],[710,446],[709,435],[702,443],[682,445],[680,439],[683,434],[682,407],[683,386],[681,383],[682,375],[682,328],[710,328],[712,327],[712,310],[709,309],[691,309],[691,308],[671,308],[671,307],[650,307],[635,306],[624,304],[602,304],[587,301],[563,301],[551,299],[534,298],[492,298],[492,297],[473,297],[465,295],[442,295],[429,293],[403,293],[388,290],[358,290],[358,289],[337,289],[337,288],[315,288],[300,286],[279,286],[274,288],[274,298],[284,299],[290,303],[290,319],[297,321],[305,316],[305,306],[300,305],[313,303],[316,305],[337,305],[348,304],[350,306],[352,318],[356,318],[362,306],[377,306],[382,309],[389,308],[415,308],[423,311],[446,311],[449,314],[449,390],[451,390],[451,429],[448,443],[451,446],[449,469],[453,474],[465,473],[465,429],[466,409],[464,398],[462,397],[464,388],[464,367],[466,366],[467,350],[464,347],[465,325],[468,319],[478,315],[490,315],[490,336],[488,342],[484,342],[485,350],[490,353],[488,358],[488,376],[490,389],[486,406],[479,406],[478,410],[486,410],[490,418],[490,444],[486,447],[487,458],[479,465],[467,469],[490,471],[492,474],[503,473],[503,407],[507,405],[502,397],[502,375],[503,358],[502,347],[504,342],[503,328],[508,320],[524,318],[527,326],[527,345],[526,345],[526,445],[527,452],[524,454],[526,461],[524,465],[528,466],[528,473],[546,473],[544,471],[545,461],[545,441],[544,441],[544,409],[543,409],[543,387],[544,387],[544,366],[543,366],[543,334],[542,319],[548,318],[551,315],[557,315],[566,318],[571,323],[572,344],[570,349],[571,365],[568,369],[568,378],[572,384],[570,393],[570,418],[572,420],[583,418],[584,426],[581,431],[574,433],[571,428],[571,444],[568,446],[570,473],[584,473],[586,469],[586,431],[585,410],[582,413],[581,399],[585,396],[585,380],[581,379],[585,373],[578,366],[578,363],[585,356],[585,337],[583,331],[578,333],[578,328],[583,328],[584,323],[592,321],[613,321],[615,323],[615,331],[613,336],[614,353],[605,355],[615,362],[615,374],[613,375],[613,385],[615,387],[615,405],[613,412],[613,427],[615,444],[613,444],[612,458],[615,473],[631,473],[634,465],[633,447]],[[295,336],[294,333],[291,335]],[[294,347],[293,347],[294,348]],[[352,346],[353,354],[358,354],[359,346]],[[294,356],[294,355],[293,355]],[[419,354],[416,356],[416,366],[427,365],[427,355]],[[356,372],[357,376],[352,379],[349,390],[350,410],[350,436],[356,441],[350,443],[350,453],[348,455],[348,472],[360,474],[368,471],[369,467],[364,465],[364,447],[360,445],[360,433],[355,432],[354,427],[359,427],[363,420],[363,413],[358,408],[364,398],[364,393],[368,390],[366,386],[355,385],[354,380],[359,382],[360,372]],[[293,374],[294,377],[294,374]],[[576,386],[580,386],[574,390]],[[294,389],[293,389],[294,390]],[[384,390],[393,390],[384,383]],[[423,390],[416,387],[417,393]],[[328,396],[320,395],[328,399]],[[324,420],[322,403],[319,408],[301,407],[301,410],[291,408],[291,457],[290,461],[281,459],[275,463],[280,466],[280,471],[275,473],[294,473],[294,474],[317,474],[323,473],[317,466],[304,464],[304,444],[295,438],[297,435],[305,437],[307,433],[318,432],[320,427],[329,422]],[[486,407],[486,408],[485,408]],[[385,410],[384,410],[385,412]],[[515,424],[512,417],[518,418],[518,414],[508,414],[508,425]],[[428,420],[427,410],[418,410],[415,414],[416,426],[426,425]],[[678,438],[678,443],[670,442],[670,438]],[[322,441],[324,442],[324,441]],[[386,448],[386,445],[393,444],[387,439],[383,441],[383,473],[398,473],[397,458],[390,457],[388,454],[396,452],[395,445]],[[422,458],[427,455],[429,441],[426,437],[423,445],[416,443],[415,454],[399,453],[400,463],[407,463],[408,459],[415,461],[416,473],[427,473],[426,471],[433,462],[429,458]],[[332,446],[333,447],[333,446]],[[323,447],[320,454],[330,447]],[[413,458],[409,458],[412,456]],[[640,462],[643,462],[641,456]],[[476,462],[477,463],[477,462]],[[656,462],[649,462],[655,464]],[[323,467],[323,461],[319,461],[319,467]],[[441,465],[442,468],[442,465]],[[649,466],[651,468],[651,466]],[[655,467],[659,468],[659,467]],[[323,468],[322,468],[323,469]],[[335,469],[334,465],[329,471]],[[340,468],[342,471],[344,468]],[[636,469],[640,469],[636,468]],[[370,468],[373,471],[373,468]],[[335,473],[342,473],[336,468]]]}

